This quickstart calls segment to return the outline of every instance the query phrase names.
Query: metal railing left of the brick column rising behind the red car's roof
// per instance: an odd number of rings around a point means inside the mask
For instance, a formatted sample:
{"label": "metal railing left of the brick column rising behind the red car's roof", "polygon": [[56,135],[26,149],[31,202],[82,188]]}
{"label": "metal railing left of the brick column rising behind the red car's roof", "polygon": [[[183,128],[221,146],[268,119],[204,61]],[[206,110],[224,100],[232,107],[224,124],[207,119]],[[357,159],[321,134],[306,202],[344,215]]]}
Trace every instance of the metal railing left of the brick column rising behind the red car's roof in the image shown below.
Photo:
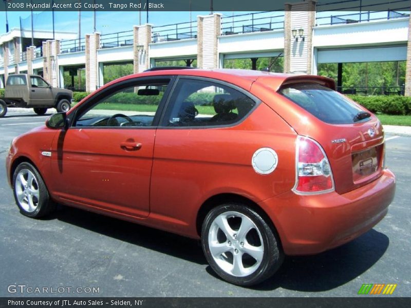
{"label": "metal railing left of the brick column rising behind the red car's roof", "polygon": [[169,42],[197,38],[197,21],[153,27],[152,42]]}

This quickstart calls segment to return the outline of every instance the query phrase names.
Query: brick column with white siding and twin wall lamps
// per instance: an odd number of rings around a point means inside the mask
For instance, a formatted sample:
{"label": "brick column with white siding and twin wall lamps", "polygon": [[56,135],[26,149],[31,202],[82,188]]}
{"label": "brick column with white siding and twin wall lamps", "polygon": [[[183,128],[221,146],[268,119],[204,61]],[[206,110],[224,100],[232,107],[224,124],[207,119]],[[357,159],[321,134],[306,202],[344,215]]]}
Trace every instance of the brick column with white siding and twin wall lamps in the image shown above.
{"label": "brick column with white siding and twin wall lamps", "polygon": [[[312,32],[315,0],[286,4],[284,22],[284,72],[312,73]],[[298,30],[304,30],[304,41]],[[292,30],[297,31],[295,38]]]}

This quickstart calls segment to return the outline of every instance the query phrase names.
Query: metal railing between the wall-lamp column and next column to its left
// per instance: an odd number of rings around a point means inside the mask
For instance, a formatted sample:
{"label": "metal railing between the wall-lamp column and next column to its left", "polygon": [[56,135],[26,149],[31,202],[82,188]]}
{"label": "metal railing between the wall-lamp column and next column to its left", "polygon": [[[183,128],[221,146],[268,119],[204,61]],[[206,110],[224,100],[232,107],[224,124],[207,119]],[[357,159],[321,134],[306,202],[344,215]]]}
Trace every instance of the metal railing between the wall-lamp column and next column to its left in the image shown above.
{"label": "metal railing between the wall-lamp column and next column to its left", "polygon": [[284,29],[284,11],[256,12],[221,18],[221,34],[230,35]]}

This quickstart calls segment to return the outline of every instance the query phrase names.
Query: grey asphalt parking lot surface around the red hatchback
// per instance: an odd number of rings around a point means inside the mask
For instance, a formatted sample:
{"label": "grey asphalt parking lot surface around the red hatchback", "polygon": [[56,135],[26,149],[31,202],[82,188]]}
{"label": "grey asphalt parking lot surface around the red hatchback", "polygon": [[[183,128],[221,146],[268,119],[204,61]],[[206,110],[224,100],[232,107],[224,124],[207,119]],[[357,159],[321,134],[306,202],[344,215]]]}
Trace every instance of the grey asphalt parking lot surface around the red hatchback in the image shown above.
{"label": "grey asphalt parking lot surface around the red hatchback", "polygon": [[[397,191],[383,221],[332,251],[287,257],[272,279],[242,288],[214,275],[195,240],[63,206],[42,220],[21,215],[6,153],[14,137],[46,119],[29,109],[10,109],[0,119],[0,297],[356,297],[363,283],[397,283],[391,296],[411,296],[411,137],[386,136]],[[9,293],[16,284],[65,292]],[[86,287],[99,293],[84,293]]]}

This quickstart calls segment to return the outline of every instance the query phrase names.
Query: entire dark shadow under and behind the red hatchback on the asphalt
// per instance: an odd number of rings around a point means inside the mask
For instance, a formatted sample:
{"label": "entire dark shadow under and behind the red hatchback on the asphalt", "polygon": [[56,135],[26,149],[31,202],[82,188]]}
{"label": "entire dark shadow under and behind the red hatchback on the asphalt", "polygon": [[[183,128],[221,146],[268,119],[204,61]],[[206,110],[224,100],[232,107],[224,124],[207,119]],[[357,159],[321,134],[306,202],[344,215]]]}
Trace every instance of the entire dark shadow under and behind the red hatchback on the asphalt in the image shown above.
{"label": "entire dark shadow under and behind the red hatchback on the asphalt", "polygon": [[[59,210],[43,219],[58,219],[162,254],[208,264],[199,241],[169,232],[65,206],[59,206]],[[352,242],[318,255],[286,257],[272,278],[251,288],[256,291],[272,291],[278,287],[300,292],[332,290],[365,273],[384,255],[388,245],[386,235],[371,229]],[[210,266],[206,270],[221,280]]]}

